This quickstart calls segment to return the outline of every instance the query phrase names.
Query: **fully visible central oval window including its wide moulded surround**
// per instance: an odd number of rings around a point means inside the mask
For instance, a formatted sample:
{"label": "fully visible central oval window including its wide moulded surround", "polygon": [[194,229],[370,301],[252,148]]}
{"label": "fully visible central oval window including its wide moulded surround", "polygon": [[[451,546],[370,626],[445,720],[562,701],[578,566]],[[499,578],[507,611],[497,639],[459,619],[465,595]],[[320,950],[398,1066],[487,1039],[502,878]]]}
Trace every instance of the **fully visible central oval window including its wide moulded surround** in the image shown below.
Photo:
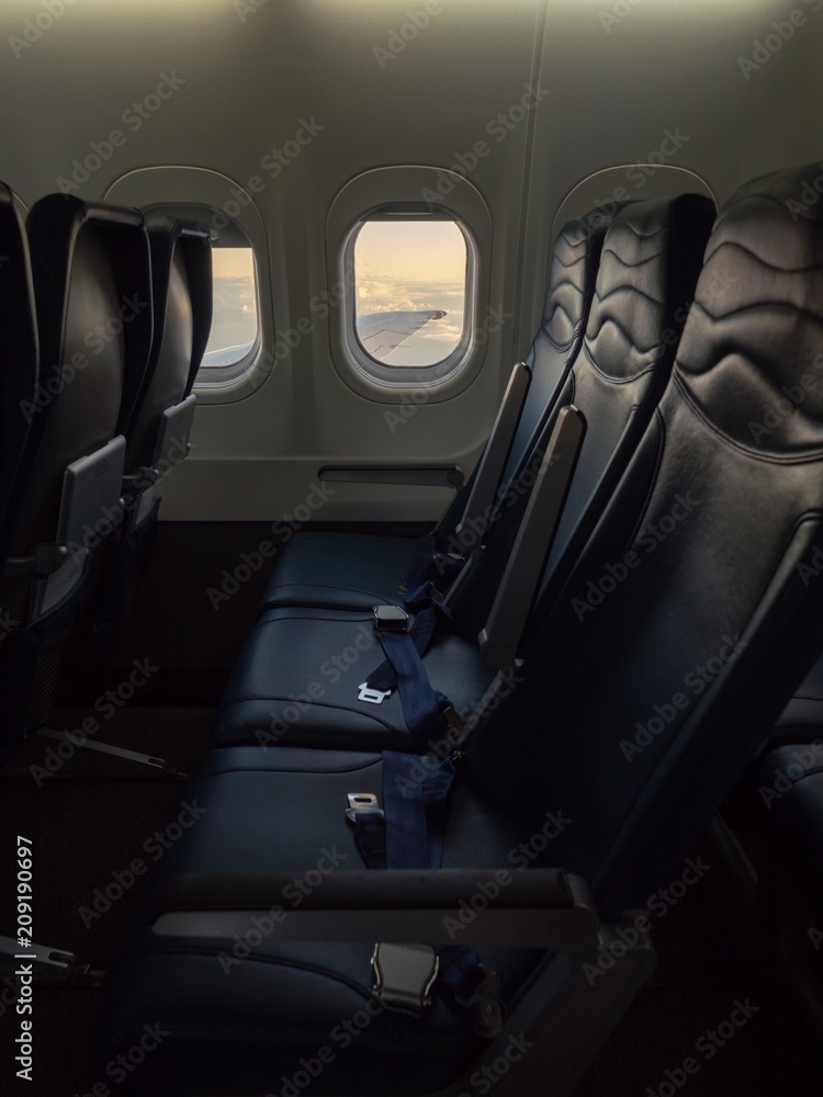
{"label": "fully visible central oval window including its wide moulded surround", "polygon": [[456,172],[393,166],[346,183],[326,218],[326,276],[342,306],[329,309],[331,361],[349,388],[381,404],[426,389],[439,404],[501,360],[493,237],[483,196]]}

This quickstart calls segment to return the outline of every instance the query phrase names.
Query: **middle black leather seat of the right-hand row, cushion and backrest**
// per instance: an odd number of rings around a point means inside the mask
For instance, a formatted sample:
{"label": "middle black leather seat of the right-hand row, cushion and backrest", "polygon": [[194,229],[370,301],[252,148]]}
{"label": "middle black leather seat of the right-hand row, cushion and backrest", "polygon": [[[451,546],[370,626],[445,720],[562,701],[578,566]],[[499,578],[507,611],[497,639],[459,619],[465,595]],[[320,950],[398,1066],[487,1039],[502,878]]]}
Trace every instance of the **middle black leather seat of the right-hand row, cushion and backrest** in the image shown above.
{"label": "middle black leather seat of the right-hand row, cushion and backrest", "polygon": [[[589,429],[546,564],[546,599],[585,544],[666,385],[712,219],[707,199],[680,195],[629,205],[607,231],[582,351],[552,393],[535,446],[539,460],[561,405],[583,412]],[[531,415],[537,423],[539,414]],[[471,641],[496,595],[533,465],[532,455],[511,482],[519,490],[504,497],[483,554],[451,604],[450,631]],[[432,687],[466,716],[494,674],[476,648],[454,638],[442,629],[425,661]],[[370,610],[269,610],[226,687],[215,742],[422,749],[396,691],[380,704],[361,699],[359,686],[382,660]]]}

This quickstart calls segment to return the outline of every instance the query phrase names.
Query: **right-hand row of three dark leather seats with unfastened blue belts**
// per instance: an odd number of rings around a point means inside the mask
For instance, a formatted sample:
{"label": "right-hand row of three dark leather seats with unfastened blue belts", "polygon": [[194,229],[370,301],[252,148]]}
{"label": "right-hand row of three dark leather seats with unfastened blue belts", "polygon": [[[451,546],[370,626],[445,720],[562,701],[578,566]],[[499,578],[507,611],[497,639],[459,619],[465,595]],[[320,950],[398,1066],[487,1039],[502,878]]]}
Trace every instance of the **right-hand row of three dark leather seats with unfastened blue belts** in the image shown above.
{"label": "right-hand row of three dark leather seats with unfastened blue belts", "polygon": [[124,1090],[460,1094],[503,1056],[568,1092],[647,974],[625,912],[823,648],[821,391],[752,431],[823,348],[815,171],[564,229],[458,513],[288,547],[108,980],[101,1063],[162,1033]]}

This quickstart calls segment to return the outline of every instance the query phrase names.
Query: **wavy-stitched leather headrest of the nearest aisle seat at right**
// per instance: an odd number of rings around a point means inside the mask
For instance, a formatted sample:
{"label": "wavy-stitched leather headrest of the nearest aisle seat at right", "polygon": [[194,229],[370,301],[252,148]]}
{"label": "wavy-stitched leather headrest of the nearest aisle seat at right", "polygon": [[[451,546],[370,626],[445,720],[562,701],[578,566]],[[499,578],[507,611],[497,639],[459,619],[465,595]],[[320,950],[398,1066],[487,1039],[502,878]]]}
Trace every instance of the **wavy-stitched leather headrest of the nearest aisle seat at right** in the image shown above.
{"label": "wavy-stitched leather headrest of the nearest aisle seat at right", "polygon": [[823,165],[812,163],[732,195],[677,354],[676,376],[698,414],[764,455],[823,446],[821,190]]}

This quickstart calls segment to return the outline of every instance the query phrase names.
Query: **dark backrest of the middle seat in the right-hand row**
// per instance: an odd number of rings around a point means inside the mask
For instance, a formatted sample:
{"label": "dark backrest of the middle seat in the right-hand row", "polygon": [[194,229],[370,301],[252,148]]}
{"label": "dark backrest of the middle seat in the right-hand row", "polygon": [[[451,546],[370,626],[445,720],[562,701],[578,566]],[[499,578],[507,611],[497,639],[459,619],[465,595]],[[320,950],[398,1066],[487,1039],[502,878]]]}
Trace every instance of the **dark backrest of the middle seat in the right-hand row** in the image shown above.
{"label": "dark backrest of the middle seat in the right-hand row", "polygon": [[[580,352],[556,394],[519,490],[504,498],[478,566],[454,602],[458,629],[476,636],[528,502],[528,487],[561,407],[583,414],[586,434],[551,547],[544,589],[567,575],[625,468],[665,388],[714,218],[697,194],[651,199],[613,218]],[[515,482],[518,484],[518,480]],[[546,596],[548,597],[548,596]]]}

